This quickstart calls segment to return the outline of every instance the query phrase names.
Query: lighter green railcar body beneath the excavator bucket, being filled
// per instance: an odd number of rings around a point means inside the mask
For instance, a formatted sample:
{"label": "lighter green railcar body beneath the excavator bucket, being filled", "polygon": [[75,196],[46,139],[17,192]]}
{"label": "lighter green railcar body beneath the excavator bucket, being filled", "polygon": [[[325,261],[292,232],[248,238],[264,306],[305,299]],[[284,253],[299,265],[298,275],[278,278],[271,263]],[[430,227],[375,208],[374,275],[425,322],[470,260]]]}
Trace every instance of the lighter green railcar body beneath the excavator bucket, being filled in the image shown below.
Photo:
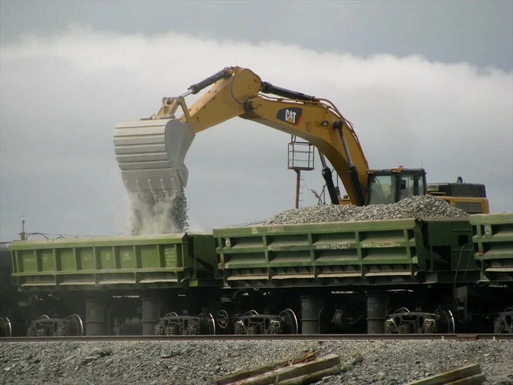
{"label": "lighter green railcar body beneath the excavator bucket, being filled", "polygon": [[219,285],[212,235],[17,241],[12,276],[23,291]]}

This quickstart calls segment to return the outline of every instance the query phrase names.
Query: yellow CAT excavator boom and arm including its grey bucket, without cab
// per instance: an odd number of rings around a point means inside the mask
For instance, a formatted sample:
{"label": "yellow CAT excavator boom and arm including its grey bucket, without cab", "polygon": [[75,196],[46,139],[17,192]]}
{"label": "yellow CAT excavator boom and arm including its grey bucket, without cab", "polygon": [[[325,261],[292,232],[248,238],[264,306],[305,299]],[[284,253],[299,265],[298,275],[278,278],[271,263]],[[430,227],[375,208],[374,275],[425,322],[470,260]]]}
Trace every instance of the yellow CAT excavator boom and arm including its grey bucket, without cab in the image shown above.
{"label": "yellow CAT excavator boom and arm including its grey bucket, without cab", "polygon": [[[209,85],[212,86],[187,108],[184,98]],[[174,114],[179,107],[183,115],[176,119]],[[240,67],[224,68],[190,86],[179,97],[164,98],[159,112],[146,121],[116,126],[114,145],[127,189],[179,193],[179,186],[187,183],[183,160],[195,133],[233,117],[261,123],[312,143],[320,151],[321,160],[325,156],[339,174],[350,202],[365,204],[367,160],[352,125],[337,107],[328,100],[262,82],[251,70]],[[153,122],[164,128],[153,128],[156,134],[152,141],[148,136],[151,129],[141,122],[154,127]],[[151,147],[159,140],[162,143]],[[152,153],[153,150],[161,152]],[[166,163],[166,151],[169,163]],[[324,167],[323,175],[327,181],[327,177],[331,180],[329,168]]]}

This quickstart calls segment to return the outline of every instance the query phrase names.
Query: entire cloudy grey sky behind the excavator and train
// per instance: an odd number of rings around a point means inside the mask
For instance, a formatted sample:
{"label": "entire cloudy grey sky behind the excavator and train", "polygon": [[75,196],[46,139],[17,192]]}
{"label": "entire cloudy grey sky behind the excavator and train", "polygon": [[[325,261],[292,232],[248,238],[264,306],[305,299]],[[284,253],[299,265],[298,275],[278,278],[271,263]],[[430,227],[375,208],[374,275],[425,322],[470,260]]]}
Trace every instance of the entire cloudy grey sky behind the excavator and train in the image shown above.
{"label": "entire cloudy grey sky behind the excavator and train", "polygon": [[[484,183],[513,210],[513,2],[0,2],[0,241],[124,234],[116,123],[239,65],[333,101],[373,168]],[[239,118],[187,154],[195,230],[294,205],[287,134]],[[318,159],[317,159],[318,161]],[[302,205],[317,202],[319,162]]]}

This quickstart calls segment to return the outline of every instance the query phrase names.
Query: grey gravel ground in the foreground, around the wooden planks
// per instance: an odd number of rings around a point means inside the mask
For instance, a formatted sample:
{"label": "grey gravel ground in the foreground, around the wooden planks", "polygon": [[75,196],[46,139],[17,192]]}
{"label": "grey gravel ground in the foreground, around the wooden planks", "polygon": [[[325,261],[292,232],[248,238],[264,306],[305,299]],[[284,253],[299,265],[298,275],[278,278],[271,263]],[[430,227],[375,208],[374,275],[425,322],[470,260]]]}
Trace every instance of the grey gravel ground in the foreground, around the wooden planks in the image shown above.
{"label": "grey gravel ground in the foreground, around the wooden planks", "polygon": [[513,384],[513,342],[226,341],[0,343],[2,384],[208,384],[305,351],[340,356],[318,384],[396,385],[479,363],[486,384]]}

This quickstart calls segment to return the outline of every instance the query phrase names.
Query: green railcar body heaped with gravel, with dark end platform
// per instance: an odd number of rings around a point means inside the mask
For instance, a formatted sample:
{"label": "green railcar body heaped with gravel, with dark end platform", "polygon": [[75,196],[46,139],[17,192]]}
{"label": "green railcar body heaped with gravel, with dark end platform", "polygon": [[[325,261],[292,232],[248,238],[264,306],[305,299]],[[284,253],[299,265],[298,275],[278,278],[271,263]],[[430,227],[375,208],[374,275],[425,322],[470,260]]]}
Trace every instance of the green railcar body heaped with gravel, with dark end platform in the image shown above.
{"label": "green railcar body heaped with gravel, with dark end platform", "polygon": [[213,230],[230,287],[453,282],[477,267],[466,218]]}

